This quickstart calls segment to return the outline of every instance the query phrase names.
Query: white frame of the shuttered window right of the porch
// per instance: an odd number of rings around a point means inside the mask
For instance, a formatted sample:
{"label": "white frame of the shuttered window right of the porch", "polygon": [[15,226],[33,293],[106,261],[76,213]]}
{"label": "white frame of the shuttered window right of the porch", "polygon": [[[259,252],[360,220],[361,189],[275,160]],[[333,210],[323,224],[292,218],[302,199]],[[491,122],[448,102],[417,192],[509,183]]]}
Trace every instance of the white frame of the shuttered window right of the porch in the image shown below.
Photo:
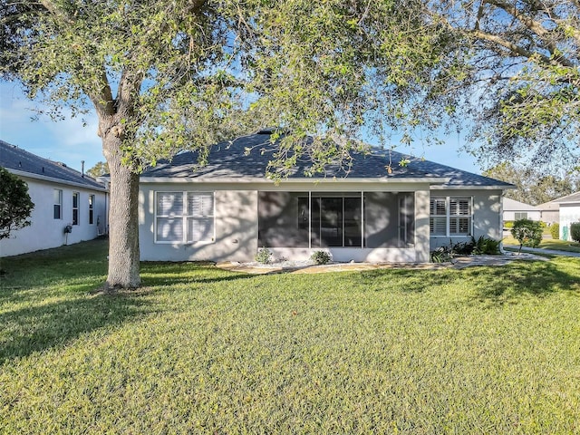
{"label": "white frame of the shuttered window right of the porch", "polygon": [[[431,211],[437,211],[438,208],[434,207],[433,201],[434,200],[444,200],[445,204],[445,214],[431,214]],[[468,201],[468,212],[462,213],[461,212],[461,204],[460,201]],[[452,213],[452,201],[456,201],[456,212]],[[433,196],[430,197],[429,201],[429,234],[430,237],[471,237],[473,235],[473,197],[469,195],[448,195],[448,196]],[[435,233],[433,231],[435,219],[445,219],[445,234],[441,234],[440,232]],[[461,220],[467,219],[467,231],[459,231],[459,228],[462,227]],[[457,230],[455,232],[451,232],[452,222],[455,221],[455,227]]]}

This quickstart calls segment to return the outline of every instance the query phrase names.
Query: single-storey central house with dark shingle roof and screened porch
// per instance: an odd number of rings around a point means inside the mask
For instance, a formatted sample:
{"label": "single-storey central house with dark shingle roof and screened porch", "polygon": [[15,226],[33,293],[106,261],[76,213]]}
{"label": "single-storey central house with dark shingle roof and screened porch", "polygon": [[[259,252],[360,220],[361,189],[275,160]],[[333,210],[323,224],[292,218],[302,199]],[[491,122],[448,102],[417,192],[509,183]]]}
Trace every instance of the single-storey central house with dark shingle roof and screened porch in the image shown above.
{"label": "single-storey central house with dark shingle roof and screened porch", "polygon": [[181,152],[144,171],[141,258],[252,261],[266,247],[287,259],[324,250],[335,261],[421,263],[450,241],[502,238],[506,182],[430,161],[400,167],[405,156],[373,149],[347,177],[305,177],[300,161],[276,184],[265,176],[273,148],[259,131],[211,147],[201,168],[196,152]]}

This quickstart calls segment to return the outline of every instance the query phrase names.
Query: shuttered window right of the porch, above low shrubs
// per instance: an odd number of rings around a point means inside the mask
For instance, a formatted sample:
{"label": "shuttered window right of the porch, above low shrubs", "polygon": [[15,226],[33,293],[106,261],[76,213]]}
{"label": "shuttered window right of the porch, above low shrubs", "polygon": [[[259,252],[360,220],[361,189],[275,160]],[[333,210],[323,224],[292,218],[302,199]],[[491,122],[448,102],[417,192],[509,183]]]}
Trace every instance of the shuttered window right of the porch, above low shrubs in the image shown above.
{"label": "shuttered window right of the porch, above low shrubs", "polygon": [[473,220],[470,197],[430,198],[431,236],[469,236]]}

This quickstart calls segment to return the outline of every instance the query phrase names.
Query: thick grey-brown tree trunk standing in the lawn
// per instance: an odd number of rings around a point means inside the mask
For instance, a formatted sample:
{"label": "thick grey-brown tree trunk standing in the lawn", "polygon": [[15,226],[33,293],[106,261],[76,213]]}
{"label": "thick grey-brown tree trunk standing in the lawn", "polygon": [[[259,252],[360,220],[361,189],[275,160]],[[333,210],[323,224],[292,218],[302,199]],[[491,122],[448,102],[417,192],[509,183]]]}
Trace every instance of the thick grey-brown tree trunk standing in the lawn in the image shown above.
{"label": "thick grey-brown tree trunk standing in the lawn", "polygon": [[[103,131],[103,129],[101,129]],[[122,134],[109,126],[102,150],[111,175],[107,288],[137,288],[139,274],[139,175],[121,163]]]}

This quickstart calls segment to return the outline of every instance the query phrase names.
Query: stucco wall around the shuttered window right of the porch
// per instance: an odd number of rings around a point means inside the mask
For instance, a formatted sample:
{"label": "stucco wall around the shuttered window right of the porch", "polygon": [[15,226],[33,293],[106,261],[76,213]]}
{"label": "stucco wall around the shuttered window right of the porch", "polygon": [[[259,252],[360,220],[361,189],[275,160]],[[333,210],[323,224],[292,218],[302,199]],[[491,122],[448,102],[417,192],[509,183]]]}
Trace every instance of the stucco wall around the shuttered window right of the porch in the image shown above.
{"label": "stucco wall around the shuttered window right of the porch", "polygon": [[[490,189],[431,189],[433,197],[473,198],[473,237],[480,236],[501,240],[503,222],[501,216],[501,190]],[[449,243],[467,242],[471,236],[445,237],[431,236],[430,250],[449,246]]]}

